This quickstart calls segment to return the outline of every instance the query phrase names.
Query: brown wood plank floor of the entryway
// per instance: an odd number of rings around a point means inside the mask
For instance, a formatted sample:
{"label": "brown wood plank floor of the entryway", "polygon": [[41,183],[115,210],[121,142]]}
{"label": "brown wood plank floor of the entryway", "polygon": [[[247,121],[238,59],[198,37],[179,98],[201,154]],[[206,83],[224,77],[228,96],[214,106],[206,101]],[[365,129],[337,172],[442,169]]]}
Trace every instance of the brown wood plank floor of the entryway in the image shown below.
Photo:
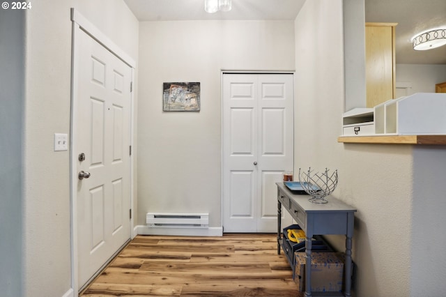
{"label": "brown wood plank floor of the entryway", "polygon": [[304,296],[276,234],[137,236],[80,295]]}

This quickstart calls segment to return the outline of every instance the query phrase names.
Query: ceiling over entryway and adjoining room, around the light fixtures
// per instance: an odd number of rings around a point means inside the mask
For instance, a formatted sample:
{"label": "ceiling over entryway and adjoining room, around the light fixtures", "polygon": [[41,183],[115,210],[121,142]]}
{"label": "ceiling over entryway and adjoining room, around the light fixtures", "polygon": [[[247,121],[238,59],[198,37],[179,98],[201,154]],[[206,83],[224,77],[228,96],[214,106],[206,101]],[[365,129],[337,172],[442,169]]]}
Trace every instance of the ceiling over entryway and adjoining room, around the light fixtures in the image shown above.
{"label": "ceiling over entryway and adjoining room, around the light fixtures", "polygon": [[[233,0],[232,10],[204,11],[204,0],[125,0],[137,19],[295,20],[305,0]],[[446,28],[446,0],[365,0],[366,22],[396,22],[397,63],[446,64],[446,45],[415,51],[410,38],[420,31]]]}

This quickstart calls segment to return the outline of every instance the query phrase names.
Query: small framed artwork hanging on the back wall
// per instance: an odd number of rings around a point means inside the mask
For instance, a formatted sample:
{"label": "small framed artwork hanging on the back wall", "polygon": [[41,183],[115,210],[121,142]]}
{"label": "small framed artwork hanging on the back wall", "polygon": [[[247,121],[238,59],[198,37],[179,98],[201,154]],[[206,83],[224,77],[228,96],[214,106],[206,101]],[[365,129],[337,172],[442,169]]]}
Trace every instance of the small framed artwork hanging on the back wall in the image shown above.
{"label": "small framed artwork hanging on the back wall", "polygon": [[164,82],[162,84],[163,112],[199,112],[199,82]]}

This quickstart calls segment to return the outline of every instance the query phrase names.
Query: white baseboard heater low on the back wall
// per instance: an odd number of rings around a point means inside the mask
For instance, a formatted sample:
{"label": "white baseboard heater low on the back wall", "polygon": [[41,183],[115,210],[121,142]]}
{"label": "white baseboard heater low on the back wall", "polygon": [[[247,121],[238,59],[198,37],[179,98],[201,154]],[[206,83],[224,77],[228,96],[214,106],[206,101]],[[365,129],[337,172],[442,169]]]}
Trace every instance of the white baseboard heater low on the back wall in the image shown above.
{"label": "white baseboard heater low on the back wall", "polygon": [[147,213],[148,227],[208,228],[208,213]]}

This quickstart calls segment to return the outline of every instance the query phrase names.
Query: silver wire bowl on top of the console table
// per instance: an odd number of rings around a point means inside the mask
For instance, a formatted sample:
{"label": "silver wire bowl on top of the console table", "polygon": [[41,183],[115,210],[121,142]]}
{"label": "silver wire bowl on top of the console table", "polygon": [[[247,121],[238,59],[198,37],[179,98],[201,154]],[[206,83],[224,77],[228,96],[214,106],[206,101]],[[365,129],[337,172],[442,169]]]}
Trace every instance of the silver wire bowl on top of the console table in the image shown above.
{"label": "silver wire bowl on top of the console table", "polygon": [[330,169],[325,168],[325,172],[312,174],[311,167],[307,172],[299,168],[300,186],[308,195],[312,196],[309,201],[313,203],[328,202],[325,197],[330,195],[337,186],[337,169],[331,174],[328,173],[329,171]]}

